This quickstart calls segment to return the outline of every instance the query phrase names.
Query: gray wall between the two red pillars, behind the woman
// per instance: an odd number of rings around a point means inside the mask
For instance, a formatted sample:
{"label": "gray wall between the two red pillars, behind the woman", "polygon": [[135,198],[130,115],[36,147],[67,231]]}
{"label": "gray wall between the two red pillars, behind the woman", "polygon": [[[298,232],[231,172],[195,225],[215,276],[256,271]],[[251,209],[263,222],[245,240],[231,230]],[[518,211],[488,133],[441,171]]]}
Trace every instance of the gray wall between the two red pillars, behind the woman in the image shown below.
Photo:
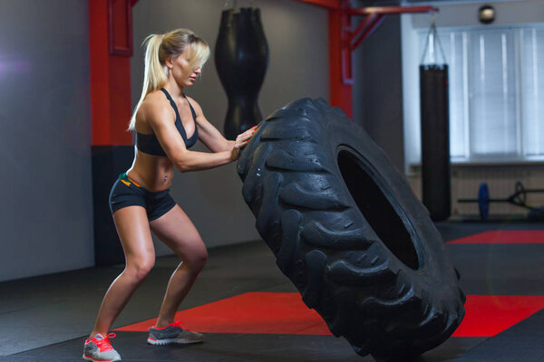
{"label": "gray wall between the two red pillars, behind the woman", "polygon": [[[251,2],[238,1],[246,6]],[[264,117],[287,102],[303,97],[329,100],[328,17],[325,9],[291,0],[253,1],[261,10],[270,49],[267,76],[259,96]],[[203,76],[187,94],[197,100],[219,130],[227,96],[215,70],[213,50],[219,31],[222,0],[140,0],[133,9],[135,52],[131,60],[132,106],[141,94],[143,48],[150,33],[186,27],[206,40],[212,50]],[[198,144],[195,150],[204,151]],[[127,166],[128,167],[128,166]],[[199,229],[208,246],[259,239],[255,218],[241,195],[236,164],[211,170],[177,173],[172,195]],[[170,251],[157,243],[157,254]]]}

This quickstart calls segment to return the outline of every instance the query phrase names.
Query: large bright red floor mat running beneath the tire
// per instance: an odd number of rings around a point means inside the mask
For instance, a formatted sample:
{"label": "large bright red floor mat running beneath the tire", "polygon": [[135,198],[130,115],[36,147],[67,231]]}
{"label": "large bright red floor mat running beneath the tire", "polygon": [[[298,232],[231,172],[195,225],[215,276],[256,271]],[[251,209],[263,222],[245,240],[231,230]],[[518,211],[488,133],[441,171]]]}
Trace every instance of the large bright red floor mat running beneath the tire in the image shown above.
{"label": "large bright red floor mat running beneath the tire", "polygon": [[[544,308],[544,297],[470,295],[466,317],[454,337],[492,337]],[[176,314],[188,329],[207,333],[330,335],[315,310],[298,293],[249,292]],[[121,331],[147,331],[149,319]]]}

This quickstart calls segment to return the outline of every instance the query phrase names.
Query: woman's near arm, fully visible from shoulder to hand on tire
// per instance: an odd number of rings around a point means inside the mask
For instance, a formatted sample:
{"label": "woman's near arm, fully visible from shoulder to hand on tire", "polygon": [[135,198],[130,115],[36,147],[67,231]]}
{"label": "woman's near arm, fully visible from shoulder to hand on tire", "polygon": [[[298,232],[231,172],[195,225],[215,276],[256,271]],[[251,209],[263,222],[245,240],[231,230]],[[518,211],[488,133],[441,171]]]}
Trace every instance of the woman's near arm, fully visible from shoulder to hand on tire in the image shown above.
{"label": "woman's near arm, fully visible from shoulder to hand on tire", "polygon": [[189,151],[174,123],[172,110],[158,103],[151,103],[146,107],[146,119],[159,139],[170,161],[180,172],[189,172],[209,169],[226,165],[238,159],[239,148],[248,144],[248,138],[239,138],[230,148],[216,153]]}

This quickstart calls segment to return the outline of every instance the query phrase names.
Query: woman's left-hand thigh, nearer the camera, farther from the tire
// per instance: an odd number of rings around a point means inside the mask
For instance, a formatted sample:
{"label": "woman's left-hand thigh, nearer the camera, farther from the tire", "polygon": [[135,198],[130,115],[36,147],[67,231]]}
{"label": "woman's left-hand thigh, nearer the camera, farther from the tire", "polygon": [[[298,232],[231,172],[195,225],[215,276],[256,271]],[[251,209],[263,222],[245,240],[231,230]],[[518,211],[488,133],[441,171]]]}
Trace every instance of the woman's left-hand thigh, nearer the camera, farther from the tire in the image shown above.
{"label": "woman's left-hand thigh, nearer the camera, farther from the tire", "polygon": [[150,270],[155,262],[155,248],[150,224],[141,206],[123,207],[113,213],[128,268]]}

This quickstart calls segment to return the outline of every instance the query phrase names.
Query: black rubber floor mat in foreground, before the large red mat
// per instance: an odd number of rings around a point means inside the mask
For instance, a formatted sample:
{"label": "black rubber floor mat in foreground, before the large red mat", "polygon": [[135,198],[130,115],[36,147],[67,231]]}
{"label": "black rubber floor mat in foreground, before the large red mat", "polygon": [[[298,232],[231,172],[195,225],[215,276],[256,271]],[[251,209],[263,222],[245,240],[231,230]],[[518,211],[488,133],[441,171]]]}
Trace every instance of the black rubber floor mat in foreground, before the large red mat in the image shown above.
{"label": "black rubber floor mat in foreground, before the large red mat", "polygon": [[[147,333],[117,332],[112,340],[123,360],[141,361],[259,361],[259,362],[373,362],[359,357],[344,338],[306,335],[206,334],[204,343],[192,346],[156,347],[145,343]],[[447,361],[474,348],[485,338],[450,338],[420,358],[421,362]],[[74,361],[81,357],[84,338],[76,338],[13,356],[0,362]]]}

